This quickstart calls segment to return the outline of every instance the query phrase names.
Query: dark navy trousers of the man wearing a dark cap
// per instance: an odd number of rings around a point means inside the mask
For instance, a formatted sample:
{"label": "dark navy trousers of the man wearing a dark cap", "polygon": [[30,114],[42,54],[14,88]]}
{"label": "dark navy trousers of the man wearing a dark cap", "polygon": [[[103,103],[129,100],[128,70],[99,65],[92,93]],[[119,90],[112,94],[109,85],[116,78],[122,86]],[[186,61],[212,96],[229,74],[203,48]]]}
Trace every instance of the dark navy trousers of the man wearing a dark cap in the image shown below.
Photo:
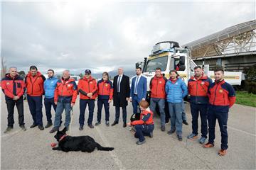
{"label": "dark navy trousers of the man wearing a dark cap", "polygon": [[80,126],[83,126],[85,124],[85,109],[87,104],[89,107],[89,117],[88,117],[87,123],[88,125],[92,125],[93,111],[95,108],[95,100],[80,99],[80,115],[79,115]]}

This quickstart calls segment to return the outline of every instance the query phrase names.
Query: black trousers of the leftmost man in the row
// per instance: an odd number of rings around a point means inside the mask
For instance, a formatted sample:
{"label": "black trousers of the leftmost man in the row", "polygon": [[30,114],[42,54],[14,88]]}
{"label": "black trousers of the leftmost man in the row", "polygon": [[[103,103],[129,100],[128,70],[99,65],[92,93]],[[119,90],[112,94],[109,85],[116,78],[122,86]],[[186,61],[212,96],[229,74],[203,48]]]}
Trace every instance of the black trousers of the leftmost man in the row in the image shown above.
{"label": "black trousers of the leftmost man in the row", "polygon": [[14,127],[14,106],[16,105],[16,108],[18,110],[18,124],[19,125],[25,125],[24,123],[24,111],[23,111],[23,97],[19,98],[17,101],[14,101],[13,99],[7,99],[6,98],[6,106],[8,111],[8,126]]}

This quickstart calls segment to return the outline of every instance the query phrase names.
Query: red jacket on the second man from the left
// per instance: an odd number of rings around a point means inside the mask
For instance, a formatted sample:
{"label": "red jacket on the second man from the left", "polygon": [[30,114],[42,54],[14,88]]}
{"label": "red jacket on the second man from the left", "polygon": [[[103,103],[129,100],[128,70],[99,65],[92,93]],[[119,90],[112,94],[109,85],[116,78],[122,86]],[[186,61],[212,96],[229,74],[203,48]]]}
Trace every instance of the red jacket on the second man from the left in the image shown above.
{"label": "red jacket on the second man from the left", "polygon": [[27,94],[29,96],[42,96],[44,94],[43,81],[45,80],[46,78],[41,72],[37,72],[35,77],[32,77],[31,72],[29,72],[25,77]]}

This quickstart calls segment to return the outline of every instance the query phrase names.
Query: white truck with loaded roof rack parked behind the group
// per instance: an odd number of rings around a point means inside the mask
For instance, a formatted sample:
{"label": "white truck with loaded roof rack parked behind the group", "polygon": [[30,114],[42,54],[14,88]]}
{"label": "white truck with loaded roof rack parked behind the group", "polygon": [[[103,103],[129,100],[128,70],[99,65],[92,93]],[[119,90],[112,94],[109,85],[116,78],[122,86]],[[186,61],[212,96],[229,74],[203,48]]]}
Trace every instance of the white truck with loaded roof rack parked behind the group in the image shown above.
{"label": "white truck with loaded roof rack parked behind the group", "polygon": [[[136,68],[142,68],[142,76],[147,80],[147,101],[150,101],[149,83],[157,67],[161,68],[161,73],[169,79],[169,72],[176,69],[178,75],[188,85],[188,80],[193,73],[196,63],[191,59],[191,50],[181,47],[178,42],[164,41],[158,42],[153,46],[149,57],[144,58],[144,62],[137,62]],[[209,71],[208,65],[202,65],[203,71],[210,79],[214,81],[214,72]],[[225,81],[235,86],[240,85],[242,81],[242,72],[225,72]]]}

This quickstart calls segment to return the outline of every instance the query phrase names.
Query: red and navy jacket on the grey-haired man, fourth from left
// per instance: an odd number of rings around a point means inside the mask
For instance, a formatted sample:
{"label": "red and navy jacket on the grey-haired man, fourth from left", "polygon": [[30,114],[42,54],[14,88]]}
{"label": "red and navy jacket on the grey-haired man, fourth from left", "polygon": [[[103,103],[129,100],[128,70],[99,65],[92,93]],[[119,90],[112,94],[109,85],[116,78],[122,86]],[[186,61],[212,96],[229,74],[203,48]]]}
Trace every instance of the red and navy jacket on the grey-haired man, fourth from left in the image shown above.
{"label": "red and navy jacket on the grey-haired man, fourth from left", "polygon": [[63,78],[57,81],[57,86],[54,91],[54,101],[63,103],[75,103],[78,96],[78,86],[75,84],[75,79]]}

